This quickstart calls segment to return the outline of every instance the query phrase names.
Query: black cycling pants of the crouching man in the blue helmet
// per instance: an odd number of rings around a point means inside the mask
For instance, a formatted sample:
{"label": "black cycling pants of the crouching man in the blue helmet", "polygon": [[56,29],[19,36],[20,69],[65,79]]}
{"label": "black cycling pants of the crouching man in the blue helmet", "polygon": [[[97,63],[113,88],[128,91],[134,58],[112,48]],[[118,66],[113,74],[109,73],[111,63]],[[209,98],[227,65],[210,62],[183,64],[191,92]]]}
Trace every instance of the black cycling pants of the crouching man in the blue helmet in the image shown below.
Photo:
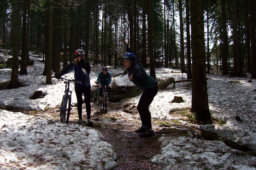
{"label": "black cycling pants of the crouching man in the blue helmet", "polygon": [[151,89],[144,90],[144,92],[140,96],[140,100],[137,106],[137,110],[140,114],[141,123],[142,125],[147,126],[148,129],[152,129],[151,114],[148,107],[154,100],[157,92],[157,85],[155,87],[152,87]]}

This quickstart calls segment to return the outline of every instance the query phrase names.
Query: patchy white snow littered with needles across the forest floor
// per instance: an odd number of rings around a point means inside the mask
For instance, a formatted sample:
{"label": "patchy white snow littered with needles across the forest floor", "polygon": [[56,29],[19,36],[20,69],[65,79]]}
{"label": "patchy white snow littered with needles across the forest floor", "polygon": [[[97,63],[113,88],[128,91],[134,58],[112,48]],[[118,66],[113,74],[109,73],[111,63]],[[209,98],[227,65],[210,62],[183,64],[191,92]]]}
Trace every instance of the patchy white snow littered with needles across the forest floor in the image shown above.
{"label": "patchy white snow littered with needles across the forest floor", "polygon": [[[0,53],[0,57],[9,55]],[[28,68],[28,75],[19,76],[19,81],[28,85],[19,89],[0,91],[0,107],[17,107],[28,110],[45,110],[56,107],[62,99],[65,84],[52,78],[52,85],[44,85],[46,77],[42,75],[44,63],[38,55],[30,58],[35,65]],[[92,89],[101,66],[92,66],[90,73]],[[149,74],[149,69],[146,69]],[[109,72],[118,85],[133,84],[128,76],[117,76],[123,69],[109,67]],[[0,69],[0,81],[10,80],[11,69]],[[52,73],[52,76],[54,73]],[[74,73],[66,74],[73,79]],[[180,70],[156,69],[157,78],[173,77],[175,80],[186,77]],[[173,111],[191,108],[190,83],[177,83],[176,88],[159,90],[150,111],[153,119],[178,120],[180,123],[202,129],[231,140],[236,144],[256,150],[256,81],[248,82],[248,78],[228,78],[222,75],[207,74],[209,108],[213,116],[222,119],[224,125],[192,125],[173,117]],[[250,75],[248,75],[250,77]],[[240,83],[231,83],[239,81]],[[29,100],[29,97],[42,90],[43,99]],[[71,85],[72,105],[76,105],[74,87]],[[183,103],[170,103],[174,96],[182,96]],[[137,105],[140,96],[123,100],[120,103]],[[242,122],[236,121],[239,116]],[[139,119],[139,116],[134,118]],[[55,119],[44,120],[40,117],[28,116],[0,110],[0,162],[2,169],[21,167],[23,169],[111,169],[116,166],[117,159],[113,146],[101,141],[101,134],[92,128],[76,124],[63,124]],[[88,136],[87,136],[88,135]],[[152,158],[152,162],[161,164],[164,169],[255,169],[255,157],[239,155],[220,141],[201,141],[190,137],[160,137],[162,153]],[[68,141],[68,142],[67,142]],[[74,143],[73,143],[74,142]],[[222,151],[222,152],[216,152]],[[40,160],[40,161],[38,161]],[[41,162],[40,165],[36,163]],[[36,166],[33,166],[36,164]],[[80,168],[80,167],[81,168]]]}

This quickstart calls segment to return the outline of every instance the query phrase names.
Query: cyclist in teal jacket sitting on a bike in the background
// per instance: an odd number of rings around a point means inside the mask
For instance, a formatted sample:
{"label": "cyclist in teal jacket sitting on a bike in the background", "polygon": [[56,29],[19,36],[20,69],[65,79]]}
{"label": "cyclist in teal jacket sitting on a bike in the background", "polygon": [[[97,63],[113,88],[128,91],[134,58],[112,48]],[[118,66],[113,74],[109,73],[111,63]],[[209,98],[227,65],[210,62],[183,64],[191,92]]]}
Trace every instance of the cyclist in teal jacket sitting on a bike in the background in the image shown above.
{"label": "cyclist in teal jacket sitting on a bike in the background", "polygon": [[110,83],[112,83],[111,74],[108,72],[108,67],[102,67],[102,71],[100,71],[99,76],[97,78],[98,85],[100,87],[100,101],[102,101],[102,90],[103,86],[106,85],[108,90],[108,97],[110,92]]}

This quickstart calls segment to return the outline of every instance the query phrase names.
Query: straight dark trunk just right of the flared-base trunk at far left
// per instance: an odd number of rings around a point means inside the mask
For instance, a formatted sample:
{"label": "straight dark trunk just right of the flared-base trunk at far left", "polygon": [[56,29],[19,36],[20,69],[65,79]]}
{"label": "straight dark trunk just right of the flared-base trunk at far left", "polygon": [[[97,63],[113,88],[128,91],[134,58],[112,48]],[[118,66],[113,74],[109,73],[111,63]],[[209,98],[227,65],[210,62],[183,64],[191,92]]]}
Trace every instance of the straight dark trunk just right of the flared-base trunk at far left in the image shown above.
{"label": "straight dark trunk just right of the flared-base trunk at far left", "polygon": [[27,0],[22,3],[22,38],[21,38],[21,62],[20,62],[20,75],[27,75],[27,56],[26,56],[26,43],[27,43]]}

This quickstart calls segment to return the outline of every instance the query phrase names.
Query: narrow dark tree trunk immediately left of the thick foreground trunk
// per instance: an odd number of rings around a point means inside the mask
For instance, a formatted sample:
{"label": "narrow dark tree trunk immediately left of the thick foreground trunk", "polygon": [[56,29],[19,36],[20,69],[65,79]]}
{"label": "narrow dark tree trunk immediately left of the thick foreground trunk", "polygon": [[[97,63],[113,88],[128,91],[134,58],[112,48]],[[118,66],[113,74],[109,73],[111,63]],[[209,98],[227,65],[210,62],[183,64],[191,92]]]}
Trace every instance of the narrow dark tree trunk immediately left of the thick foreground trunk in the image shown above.
{"label": "narrow dark tree trunk immediately left of the thick foreground trunk", "polygon": [[187,32],[187,79],[192,78],[192,68],[191,68],[191,48],[190,48],[190,22],[189,22],[189,0],[186,0],[186,32]]}

